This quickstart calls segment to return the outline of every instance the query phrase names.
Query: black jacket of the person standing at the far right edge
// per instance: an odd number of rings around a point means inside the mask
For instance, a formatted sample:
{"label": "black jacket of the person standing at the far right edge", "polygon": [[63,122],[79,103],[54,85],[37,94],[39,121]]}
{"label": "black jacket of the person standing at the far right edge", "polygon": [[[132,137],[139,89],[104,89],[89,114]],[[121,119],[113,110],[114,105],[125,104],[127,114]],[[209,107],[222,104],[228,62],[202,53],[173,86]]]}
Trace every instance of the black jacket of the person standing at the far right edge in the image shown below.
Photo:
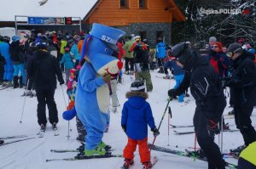
{"label": "black jacket of the person standing at the far right edge", "polygon": [[253,106],[256,102],[256,68],[251,54],[244,51],[233,61],[230,95],[234,104]]}

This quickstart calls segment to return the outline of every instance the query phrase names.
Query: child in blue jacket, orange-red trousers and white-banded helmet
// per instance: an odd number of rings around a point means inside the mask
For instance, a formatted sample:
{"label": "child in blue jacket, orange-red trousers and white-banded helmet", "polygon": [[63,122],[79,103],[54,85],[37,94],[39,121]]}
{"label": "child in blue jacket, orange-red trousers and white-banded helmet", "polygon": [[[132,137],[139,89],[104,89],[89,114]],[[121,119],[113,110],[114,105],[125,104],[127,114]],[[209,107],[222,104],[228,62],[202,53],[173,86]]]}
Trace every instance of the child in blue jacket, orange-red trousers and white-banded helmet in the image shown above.
{"label": "child in blue jacket, orange-red trousers and white-banded helmet", "polygon": [[125,164],[123,168],[129,168],[133,164],[133,153],[137,144],[143,168],[151,168],[150,152],[148,150],[148,126],[154,134],[158,136],[160,132],[154,125],[152,110],[146,99],[143,82],[135,81],[131,83],[131,92],[126,93],[128,101],[125,102],[122,110],[121,126],[128,136],[128,143],[125,146],[123,156]]}

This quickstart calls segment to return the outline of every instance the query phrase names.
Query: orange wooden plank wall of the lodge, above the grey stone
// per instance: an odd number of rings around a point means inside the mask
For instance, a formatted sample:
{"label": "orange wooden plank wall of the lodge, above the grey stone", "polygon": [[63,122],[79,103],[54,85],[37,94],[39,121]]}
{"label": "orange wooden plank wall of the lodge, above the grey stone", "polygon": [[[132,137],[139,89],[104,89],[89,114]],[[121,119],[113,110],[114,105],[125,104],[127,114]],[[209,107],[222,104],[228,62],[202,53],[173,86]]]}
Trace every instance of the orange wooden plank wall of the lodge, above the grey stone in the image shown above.
{"label": "orange wooden plank wall of the lodge, above the grey stone", "polygon": [[119,0],[102,0],[86,22],[104,25],[172,22],[172,13],[165,10],[165,0],[146,0],[147,8],[139,8],[139,0],[128,0],[129,8],[120,8]]}

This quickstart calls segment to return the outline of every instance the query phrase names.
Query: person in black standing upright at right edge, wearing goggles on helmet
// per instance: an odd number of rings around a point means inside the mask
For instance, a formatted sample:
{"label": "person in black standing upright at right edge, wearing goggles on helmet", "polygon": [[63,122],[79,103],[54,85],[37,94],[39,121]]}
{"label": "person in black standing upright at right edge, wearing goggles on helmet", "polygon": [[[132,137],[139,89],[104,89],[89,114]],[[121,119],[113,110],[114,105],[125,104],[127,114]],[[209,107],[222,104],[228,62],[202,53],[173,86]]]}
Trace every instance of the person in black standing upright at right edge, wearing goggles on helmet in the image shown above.
{"label": "person in black standing upright at right edge, wearing goggles on helmet", "polygon": [[224,86],[230,87],[236,127],[240,130],[245,143],[237,149],[230,150],[240,153],[248,144],[256,141],[256,132],[250,118],[256,103],[256,67],[252,54],[242,49],[237,42],[230,44],[228,55],[233,60],[233,72],[230,79],[224,82]]}

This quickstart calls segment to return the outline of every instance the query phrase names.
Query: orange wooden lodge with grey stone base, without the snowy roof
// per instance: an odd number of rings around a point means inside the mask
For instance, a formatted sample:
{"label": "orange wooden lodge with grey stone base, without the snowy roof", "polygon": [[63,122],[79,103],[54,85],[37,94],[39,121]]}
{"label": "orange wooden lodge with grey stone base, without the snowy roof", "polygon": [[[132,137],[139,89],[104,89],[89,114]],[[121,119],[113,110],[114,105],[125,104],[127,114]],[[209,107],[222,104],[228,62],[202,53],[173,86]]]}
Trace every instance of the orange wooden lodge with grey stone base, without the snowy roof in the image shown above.
{"label": "orange wooden lodge with grey stone base, without the snowy roof", "polygon": [[185,16],[173,0],[99,0],[85,16],[85,25],[100,23],[147,38],[155,45],[162,38],[171,42],[172,21],[184,21]]}

